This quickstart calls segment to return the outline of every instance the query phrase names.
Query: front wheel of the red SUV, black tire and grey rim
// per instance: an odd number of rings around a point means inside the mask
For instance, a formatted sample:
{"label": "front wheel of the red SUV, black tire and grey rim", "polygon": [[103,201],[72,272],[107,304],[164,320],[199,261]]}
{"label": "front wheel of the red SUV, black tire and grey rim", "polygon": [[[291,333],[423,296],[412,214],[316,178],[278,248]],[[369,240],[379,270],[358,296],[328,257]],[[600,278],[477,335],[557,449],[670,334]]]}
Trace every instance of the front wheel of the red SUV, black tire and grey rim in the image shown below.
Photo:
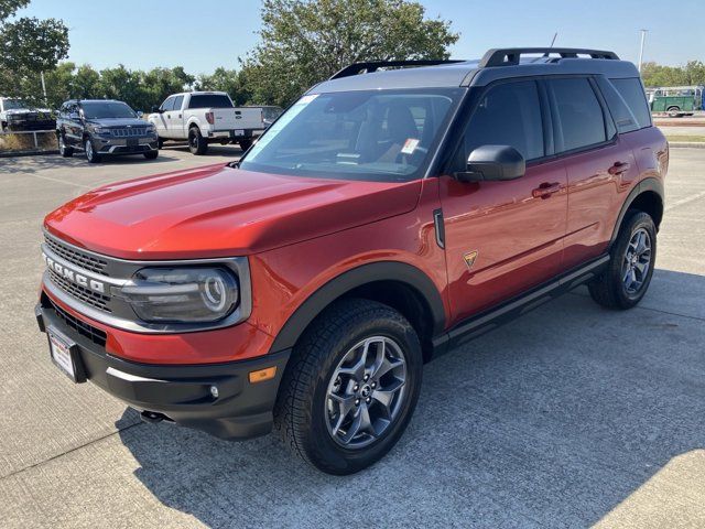
{"label": "front wheel of the red SUV, black tire and grey rim", "polygon": [[399,441],[419,398],[411,324],[367,300],[327,309],[294,347],[275,408],[284,442],[328,474],[358,472]]}

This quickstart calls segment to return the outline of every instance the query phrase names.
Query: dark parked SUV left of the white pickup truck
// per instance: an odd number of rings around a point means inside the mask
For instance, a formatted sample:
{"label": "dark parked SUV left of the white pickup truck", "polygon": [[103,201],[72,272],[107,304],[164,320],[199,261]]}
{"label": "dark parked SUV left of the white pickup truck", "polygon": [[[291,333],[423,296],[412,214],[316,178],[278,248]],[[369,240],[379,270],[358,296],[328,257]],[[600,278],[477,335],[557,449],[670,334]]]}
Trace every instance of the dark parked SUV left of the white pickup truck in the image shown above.
{"label": "dark parked SUV left of the white pickup truck", "polygon": [[156,130],[140,119],[126,102],[115,99],[72,99],[62,105],[56,121],[56,140],[62,156],[83,151],[90,163],[104,156],[159,155]]}

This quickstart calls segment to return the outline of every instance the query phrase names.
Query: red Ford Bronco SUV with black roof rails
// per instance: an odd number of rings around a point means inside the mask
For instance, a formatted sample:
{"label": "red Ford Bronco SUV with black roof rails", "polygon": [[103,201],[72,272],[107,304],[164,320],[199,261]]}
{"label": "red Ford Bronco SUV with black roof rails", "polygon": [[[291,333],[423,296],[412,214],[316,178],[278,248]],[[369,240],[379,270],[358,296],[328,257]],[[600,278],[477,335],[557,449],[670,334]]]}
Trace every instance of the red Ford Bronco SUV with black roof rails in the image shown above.
{"label": "red Ford Bronco SUV with black roof rails", "polygon": [[51,213],[37,321],[61,369],[145,421],[274,425],[349,474],[402,435],[434,356],[582,283],[636,305],[668,160],[611,52],[355,64],[239,163]]}

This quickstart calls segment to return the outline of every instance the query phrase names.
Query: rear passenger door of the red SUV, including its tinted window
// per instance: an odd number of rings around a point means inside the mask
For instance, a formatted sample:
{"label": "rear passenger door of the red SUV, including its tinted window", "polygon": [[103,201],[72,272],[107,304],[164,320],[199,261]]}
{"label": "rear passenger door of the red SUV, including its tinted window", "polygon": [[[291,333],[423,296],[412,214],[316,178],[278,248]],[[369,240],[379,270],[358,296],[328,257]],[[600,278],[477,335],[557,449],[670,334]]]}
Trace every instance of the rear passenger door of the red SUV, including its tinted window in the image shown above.
{"label": "rear passenger door of the red SUV, including its tinted window", "polygon": [[607,250],[625,193],[638,175],[630,145],[617,129],[596,80],[546,82],[556,153],[568,181],[564,262],[570,269]]}

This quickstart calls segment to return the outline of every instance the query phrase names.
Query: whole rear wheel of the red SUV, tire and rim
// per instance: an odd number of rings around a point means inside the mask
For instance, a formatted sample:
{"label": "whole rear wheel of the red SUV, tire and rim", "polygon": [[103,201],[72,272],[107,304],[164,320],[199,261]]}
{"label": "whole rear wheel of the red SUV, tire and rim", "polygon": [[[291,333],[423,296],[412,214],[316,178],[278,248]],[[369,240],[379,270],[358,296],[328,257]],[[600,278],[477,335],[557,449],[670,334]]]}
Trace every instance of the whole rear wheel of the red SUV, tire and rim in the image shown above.
{"label": "whole rear wheel of the red SUV, tire and rim", "polygon": [[607,269],[588,290],[609,309],[631,309],[647,293],[657,257],[657,228],[642,212],[630,212],[610,251]]}

